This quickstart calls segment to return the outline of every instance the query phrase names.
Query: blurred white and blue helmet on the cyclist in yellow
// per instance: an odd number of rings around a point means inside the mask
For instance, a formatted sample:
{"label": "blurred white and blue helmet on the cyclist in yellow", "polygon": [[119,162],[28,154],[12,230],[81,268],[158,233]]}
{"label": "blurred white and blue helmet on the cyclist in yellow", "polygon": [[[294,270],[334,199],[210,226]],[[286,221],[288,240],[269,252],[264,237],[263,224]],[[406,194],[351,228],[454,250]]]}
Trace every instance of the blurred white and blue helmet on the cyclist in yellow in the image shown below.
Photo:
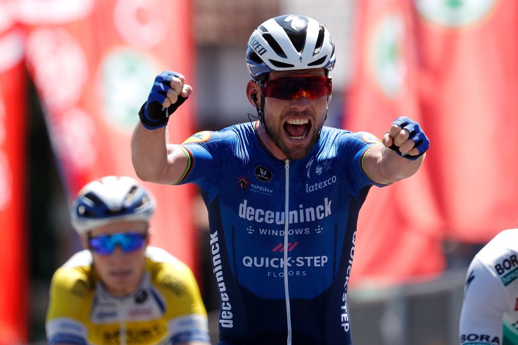
{"label": "blurred white and blue helmet on the cyclist in yellow", "polygon": [[106,176],[87,183],[74,200],[70,220],[80,235],[114,221],[148,222],[152,195],[131,177]]}

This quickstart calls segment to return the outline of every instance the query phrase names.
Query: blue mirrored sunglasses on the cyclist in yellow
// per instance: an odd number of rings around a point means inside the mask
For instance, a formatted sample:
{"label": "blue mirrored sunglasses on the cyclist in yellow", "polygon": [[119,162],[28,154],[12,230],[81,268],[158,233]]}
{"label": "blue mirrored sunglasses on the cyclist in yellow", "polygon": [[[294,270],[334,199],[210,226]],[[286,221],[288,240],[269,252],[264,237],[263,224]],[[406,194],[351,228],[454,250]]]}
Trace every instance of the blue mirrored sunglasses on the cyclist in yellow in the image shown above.
{"label": "blue mirrored sunglasses on the cyclist in yellow", "polygon": [[147,234],[136,232],[119,233],[112,235],[99,235],[88,240],[90,249],[100,255],[113,253],[116,246],[121,247],[125,253],[142,248],[146,243]]}

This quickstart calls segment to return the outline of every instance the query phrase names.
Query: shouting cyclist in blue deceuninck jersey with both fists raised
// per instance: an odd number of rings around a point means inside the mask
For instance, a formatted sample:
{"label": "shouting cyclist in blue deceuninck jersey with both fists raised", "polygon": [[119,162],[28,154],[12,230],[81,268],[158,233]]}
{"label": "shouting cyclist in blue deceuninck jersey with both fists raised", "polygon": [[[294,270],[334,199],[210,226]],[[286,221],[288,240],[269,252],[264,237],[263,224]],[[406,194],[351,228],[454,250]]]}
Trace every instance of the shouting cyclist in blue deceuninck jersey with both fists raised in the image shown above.
{"label": "shouting cyclist in blue deceuninck jersey with both fists raised", "polygon": [[192,93],[155,78],[132,137],[137,175],[195,183],[209,211],[220,293],[218,344],[352,344],[347,291],[358,212],[372,185],[410,177],[429,141],[397,118],[376,136],[324,126],[335,46],[305,16],[262,23],[248,41],[246,94],[258,121],[166,140]]}

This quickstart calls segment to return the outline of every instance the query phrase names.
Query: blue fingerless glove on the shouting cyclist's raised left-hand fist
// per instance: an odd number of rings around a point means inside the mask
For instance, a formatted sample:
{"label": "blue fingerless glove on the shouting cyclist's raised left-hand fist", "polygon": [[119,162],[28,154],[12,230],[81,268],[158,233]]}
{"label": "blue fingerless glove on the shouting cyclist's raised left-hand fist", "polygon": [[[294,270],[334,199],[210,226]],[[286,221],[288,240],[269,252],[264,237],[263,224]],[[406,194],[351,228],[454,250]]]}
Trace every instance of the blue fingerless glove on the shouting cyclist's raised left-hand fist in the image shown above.
{"label": "blue fingerless glove on the shouting cyclist's raised left-hand fist", "polygon": [[167,97],[167,90],[170,89],[171,79],[179,76],[181,76],[180,73],[168,70],[156,76],[148,100],[142,105],[138,112],[140,122],[148,130],[165,127],[167,121],[169,121],[169,116],[188,98],[178,95],[178,100],[175,104],[171,104],[168,108],[162,106],[162,103]]}

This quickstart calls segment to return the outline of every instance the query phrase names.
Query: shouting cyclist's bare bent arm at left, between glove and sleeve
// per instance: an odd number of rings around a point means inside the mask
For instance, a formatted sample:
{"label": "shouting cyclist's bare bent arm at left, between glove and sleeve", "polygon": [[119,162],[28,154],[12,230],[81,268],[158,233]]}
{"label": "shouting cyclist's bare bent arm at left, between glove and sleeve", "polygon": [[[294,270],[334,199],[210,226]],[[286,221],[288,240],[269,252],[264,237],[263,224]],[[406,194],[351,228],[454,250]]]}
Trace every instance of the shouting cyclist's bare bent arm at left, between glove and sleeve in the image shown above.
{"label": "shouting cyclist's bare bent arm at left, between glove and sleeve", "polygon": [[132,162],[137,176],[154,183],[177,182],[187,161],[174,145],[166,145],[166,127],[147,130],[137,124],[131,138]]}

